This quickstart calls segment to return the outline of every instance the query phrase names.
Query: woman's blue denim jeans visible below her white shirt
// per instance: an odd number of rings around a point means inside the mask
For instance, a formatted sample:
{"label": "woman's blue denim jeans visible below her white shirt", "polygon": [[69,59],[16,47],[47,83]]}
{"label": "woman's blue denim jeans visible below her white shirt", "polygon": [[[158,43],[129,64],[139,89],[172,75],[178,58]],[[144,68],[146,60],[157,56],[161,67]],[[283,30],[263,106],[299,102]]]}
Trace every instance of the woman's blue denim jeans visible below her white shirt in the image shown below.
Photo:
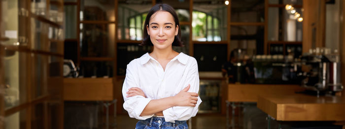
{"label": "woman's blue denim jeans visible below her white shirt", "polygon": [[166,122],[162,117],[139,120],[136,129],[188,129],[186,121]]}

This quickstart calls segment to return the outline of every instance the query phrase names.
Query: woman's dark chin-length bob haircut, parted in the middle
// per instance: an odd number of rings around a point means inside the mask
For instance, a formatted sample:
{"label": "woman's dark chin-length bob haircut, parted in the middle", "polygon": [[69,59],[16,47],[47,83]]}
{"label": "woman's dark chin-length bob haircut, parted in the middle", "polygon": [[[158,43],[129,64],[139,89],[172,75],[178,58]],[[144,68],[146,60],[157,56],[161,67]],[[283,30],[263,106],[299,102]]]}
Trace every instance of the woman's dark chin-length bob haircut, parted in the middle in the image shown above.
{"label": "woman's dark chin-length bob haircut, parted in the middle", "polygon": [[142,43],[140,44],[140,46],[153,46],[151,39],[150,39],[150,36],[147,34],[146,26],[149,25],[151,16],[160,10],[161,11],[167,11],[173,15],[173,20],[175,21],[175,27],[178,26],[178,33],[177,33],[177,36],[175,36],[175,38],[173,40],[173,46],[183,47],[184,45],[183,45],[183,42],[181,41],[181,26],[178,22],[177,14],[176,14],[176,12],[172,6],[170,6],[168,4],[164,4],[164,3],[163,4],[156,4],[150,9],[150,11],[148,11],[146,19],[145,19],[145,23],[144,23],[144,35],[142,38],[143,40],[142,40]]}

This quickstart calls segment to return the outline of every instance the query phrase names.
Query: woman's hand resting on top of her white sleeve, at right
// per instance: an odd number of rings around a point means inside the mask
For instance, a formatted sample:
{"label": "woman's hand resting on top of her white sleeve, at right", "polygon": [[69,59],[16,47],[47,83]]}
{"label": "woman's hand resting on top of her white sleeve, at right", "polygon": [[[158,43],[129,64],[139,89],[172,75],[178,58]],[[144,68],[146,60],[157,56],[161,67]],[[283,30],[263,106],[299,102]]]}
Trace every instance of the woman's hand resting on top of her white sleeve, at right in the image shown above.
{"label": "woman's hand resting on top of her white sleeve, at right", "polygon": [[195,104],[197,104],[198,94],[187,92],[189,88],[190,84],[173,97],[176,106],[195,106]]}

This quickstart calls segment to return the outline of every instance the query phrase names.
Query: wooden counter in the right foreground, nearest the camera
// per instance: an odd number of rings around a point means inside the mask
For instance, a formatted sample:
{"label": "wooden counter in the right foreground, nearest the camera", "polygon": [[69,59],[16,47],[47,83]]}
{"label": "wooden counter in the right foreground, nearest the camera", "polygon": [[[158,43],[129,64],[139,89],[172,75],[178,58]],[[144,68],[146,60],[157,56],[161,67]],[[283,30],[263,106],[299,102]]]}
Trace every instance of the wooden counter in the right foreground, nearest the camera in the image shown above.
{"label": "wooden counter in the right foreground, nearest the camera", "polygon": [[345,99],[338,96],[266,95],[257,107],[278,121],[345,121]]}

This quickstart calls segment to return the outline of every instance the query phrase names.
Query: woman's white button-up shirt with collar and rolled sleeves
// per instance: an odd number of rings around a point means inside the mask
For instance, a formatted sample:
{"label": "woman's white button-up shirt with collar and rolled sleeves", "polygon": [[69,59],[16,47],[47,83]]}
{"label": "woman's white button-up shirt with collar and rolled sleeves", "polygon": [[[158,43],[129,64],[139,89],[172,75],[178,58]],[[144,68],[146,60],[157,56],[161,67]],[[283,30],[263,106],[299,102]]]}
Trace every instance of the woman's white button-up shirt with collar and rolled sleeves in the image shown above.
{"label": "woman's white button-up shirt with collar and rolled sleeves", "polygon": [[[151,118],[154,114],[140,116],[147,103],[151,100],[175,96],[188,84],[190,84],[188,92],[198,93],[199,73],[195,58],[181,52],[167,64],[164,71],[158,61],[146,53],[127,65],[126,78],[122,87],[125,100],[123,107],[132,118],[138,120]],[[131,87],[140,88],[146,98],[139,95],[127,98],[126,92]],[[165,121],[174,123],[176,120],[185,121],[194,117],[201,102],[198,97],[195,107],[173,106],[163,110]]]}

